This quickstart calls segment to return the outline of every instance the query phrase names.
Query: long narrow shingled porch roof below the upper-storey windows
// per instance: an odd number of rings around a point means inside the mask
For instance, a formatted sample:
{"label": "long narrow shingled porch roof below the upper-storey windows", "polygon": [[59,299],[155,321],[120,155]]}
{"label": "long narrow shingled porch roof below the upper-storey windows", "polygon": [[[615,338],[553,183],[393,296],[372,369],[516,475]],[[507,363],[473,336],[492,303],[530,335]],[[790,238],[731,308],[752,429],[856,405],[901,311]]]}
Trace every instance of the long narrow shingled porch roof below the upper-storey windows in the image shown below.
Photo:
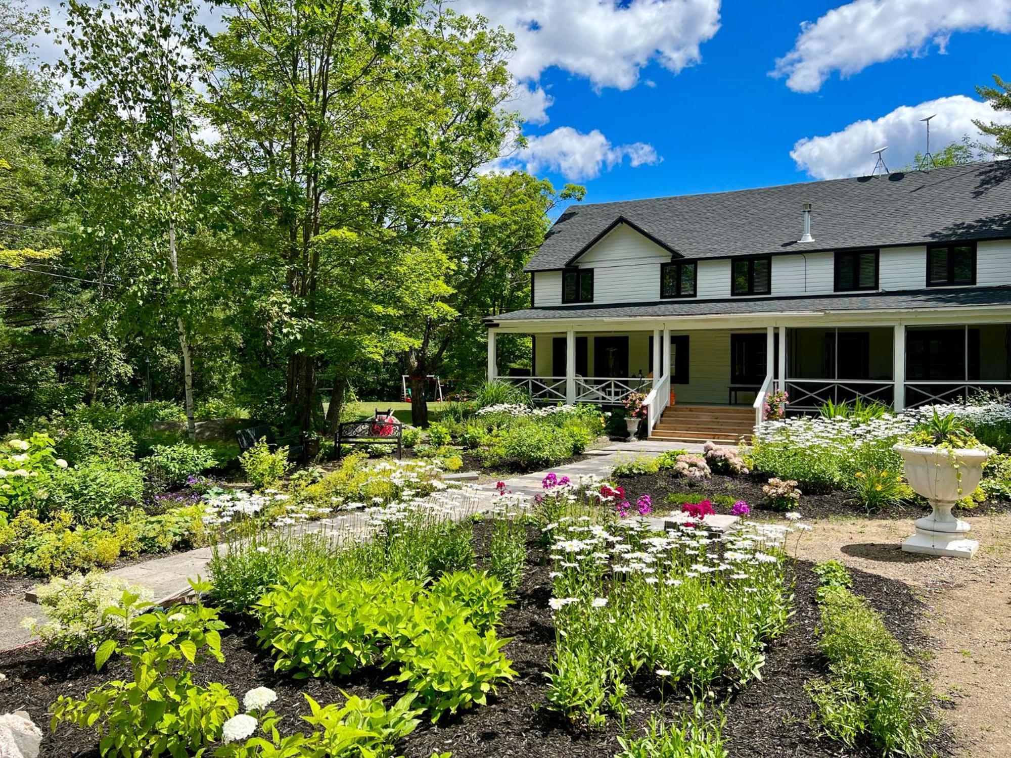
{"label": "long narrow shingled porch roof below the upper-storey windows", "polygon": [[511,313],[489,316],[485,320],[502,322],[547,318],[656,318],[684,315],[951,308],[974,305],[1011,306],[1011,287],[975,287],[790,298],[735,297],[726,300],[662,300],[626,305],[603,303],[600,305],[566,305],[514,310]]}

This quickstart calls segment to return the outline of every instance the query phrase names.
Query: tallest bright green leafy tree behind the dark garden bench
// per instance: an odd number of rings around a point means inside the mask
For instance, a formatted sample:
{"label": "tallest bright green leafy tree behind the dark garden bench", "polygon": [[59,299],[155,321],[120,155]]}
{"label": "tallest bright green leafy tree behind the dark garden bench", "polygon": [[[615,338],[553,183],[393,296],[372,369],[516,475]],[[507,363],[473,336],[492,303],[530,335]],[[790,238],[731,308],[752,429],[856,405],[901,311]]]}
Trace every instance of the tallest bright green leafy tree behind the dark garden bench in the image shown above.
{"label": "tallest bright green leafy tree behind the dark garden bench", "polygon": [[432,230],[512,125],[511,41],[415,0],[235,0],[225,15],[207,110],[234,177],[223,204],[281,272],[265,317],[289,420],[308,430],[321,366],[343,386],[376,335],[399,339],[398,296],[442,307]]}

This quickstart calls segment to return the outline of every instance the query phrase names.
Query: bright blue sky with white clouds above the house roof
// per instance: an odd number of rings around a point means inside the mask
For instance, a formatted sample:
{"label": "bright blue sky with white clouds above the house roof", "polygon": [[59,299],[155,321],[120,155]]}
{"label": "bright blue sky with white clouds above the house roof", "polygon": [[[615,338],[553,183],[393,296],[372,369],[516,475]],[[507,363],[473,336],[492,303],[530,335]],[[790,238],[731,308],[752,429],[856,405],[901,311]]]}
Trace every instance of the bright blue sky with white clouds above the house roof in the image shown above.
{"label": "bright blue sky with white clouds above the house roof", "polygon": [[521,99],[541,122],[502,165],[582,183],[589,202],[854,176],[883,145],[897,169],[923,148],[919,118],[938,114],[934,147],[978,137],[972,118],[1011,120],[975,93],[995,73],[1011,78],[1005,0],[457,8],[517,31],[514,73],[552,100]]}

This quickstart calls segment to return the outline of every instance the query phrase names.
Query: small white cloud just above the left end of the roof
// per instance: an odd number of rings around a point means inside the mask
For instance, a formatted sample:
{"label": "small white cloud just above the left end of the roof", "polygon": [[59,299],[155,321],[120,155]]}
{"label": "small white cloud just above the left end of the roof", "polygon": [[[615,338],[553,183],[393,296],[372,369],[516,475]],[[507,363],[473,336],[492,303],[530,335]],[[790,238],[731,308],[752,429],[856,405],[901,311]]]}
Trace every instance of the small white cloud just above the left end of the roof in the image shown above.
{"label": "small white cloud just above the left end of the roof", "polygon": [[492,169],[522,168],[531,174],[553,171],[572,182],[585,181],[625,161],[633,168],[652,166],[662,160],[645,143],[612,145],[599,129],[588,133],[560,126],[541,136],[527,137],[527,146],[496,161]]}

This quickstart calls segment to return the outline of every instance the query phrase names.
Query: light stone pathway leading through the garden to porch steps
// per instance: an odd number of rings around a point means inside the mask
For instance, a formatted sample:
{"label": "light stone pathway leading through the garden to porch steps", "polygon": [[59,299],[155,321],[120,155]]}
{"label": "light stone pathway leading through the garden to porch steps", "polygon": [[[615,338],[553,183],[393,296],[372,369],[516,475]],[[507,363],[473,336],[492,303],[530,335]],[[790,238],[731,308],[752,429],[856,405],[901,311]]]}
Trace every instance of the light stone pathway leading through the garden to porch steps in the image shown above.
{"label": "light stone pathway leading through the garden to porch steps", "polygon": [[[558,466],[523,476],[511,477],[504,480],[505,486],[507,489],[513,492],[533,496],[543,491],[541,480],[544,479],[544,475],[548,471],[554,471],[559,476],[566,475],[572,479],[587,474],[603,477],[610,473],[615,463],[620,460],[635,456],[653,457],[668,450],[701,452],[702,446],[649,441],[616,443],[606,448],[588,451],[587,458],[577,463]],[[458,478],[466,482],[469,477],[466,475],[458,477],[449,475],[447,478]],[[466,512],[461,512],[461,517],[469,512],[473,512],[475,509],[489,509],[491,507],[493,491],[493,485],[485,485],[479,490],[480,497],[474,503],[467,506]],[[360,512],[345,513],[333,518],[309,522],[299,527],[299,530],[304,533],[330,532],[335,536],[341,533],[360,536],[367,529],[365,519]],[[154,558],[124,566],[110,571],[109,574],[118,576],[132,584],[147,586],[151,588],[157,602],[170,603],[189,593],[188,580],[190,578],[196,578],[197,576],[207,577],[209,573],[207,571],[207,562],[210,561],[212,554],[212,548],[199,548],[185,553],[174,553],[163,558]],[[41,608],[19,595],[0,597],[0,650],[9,650],[30,642],[31,637],[20,626],[21,619],[26,615],[38,618],[41,615]]]}

